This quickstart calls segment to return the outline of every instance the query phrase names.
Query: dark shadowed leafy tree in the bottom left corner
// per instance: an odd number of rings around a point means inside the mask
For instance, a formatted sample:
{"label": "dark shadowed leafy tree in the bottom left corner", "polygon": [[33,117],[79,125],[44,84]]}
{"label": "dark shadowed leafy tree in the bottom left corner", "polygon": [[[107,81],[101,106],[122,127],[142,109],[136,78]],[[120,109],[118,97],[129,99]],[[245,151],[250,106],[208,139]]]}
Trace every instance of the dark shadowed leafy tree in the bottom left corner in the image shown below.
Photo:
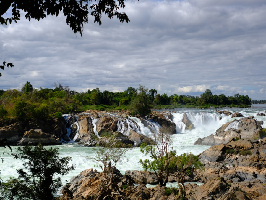
{"label": "dark shadowed leafy tree in the bottom left corner", "polygon": [[62,187],[61,176],[74,169],[70,157],[59,158],[59,148],[45,149],[41,144],[17,148],[15,159],[22,160],[24,169],[17,170],[18,178],[3,183],[7,199],[53,199]]}

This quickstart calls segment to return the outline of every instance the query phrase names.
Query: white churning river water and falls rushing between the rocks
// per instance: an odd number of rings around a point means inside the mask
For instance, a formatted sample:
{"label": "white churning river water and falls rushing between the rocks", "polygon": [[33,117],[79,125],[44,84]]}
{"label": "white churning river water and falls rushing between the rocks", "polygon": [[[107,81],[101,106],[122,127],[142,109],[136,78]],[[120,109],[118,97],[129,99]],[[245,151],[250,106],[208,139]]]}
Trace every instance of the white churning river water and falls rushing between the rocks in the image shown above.
{"label": "white churning river water and falls rushing between the rocks", "polygon": [[[257,120],[262,120],[264,124],[262,125],[263,128],[266,127],[266,117],[265,116],[256,116],[257,113],[265,113],[266,105],[265,106],[256,106],[253,105],[252,108],[228,108],[224,109],[230,111],[231,113],[240,112],[244,117],[254,116]],[[223,110],[223,109],[220,109]],[[234,119],[239,118],[231,118],[230,116],[219,115],[215,111],[215,109],[175,109],[170,110],[170,113],[173,115],[172,121],[176,124],[177,134],[173,135],[173,148],[176,150],[177,154],[180,155],[182,153],[193,153],[198,155],[202,151],[209,148],[209,146],[201,146],[201,145],[193,145],[193,143],[199,137],[205,137],[210,134],[214,134],[215,131],[221,127],[223,124],[232,121]],[[193,130],[185,130],[185,125],[181,122],[183,114],[186,113],[188,118],[194,124],[195,129]],[[220,117],[222,119],[220,120]],[[135,121],[133,123],[132,121]],[[93,124],[96,121],[93,120]],[[140,119],[131,117],[127,121],[119,121],[119,131],[123,132],[125,135],[128,134],[128,129],[125,128],[125,123],[127,123],[127,127],[132,127],[132,129],[136,130],[136,132],[140,132],[145,135],[150,135],[151,130],[158,131],[159,125],[152,121],[146,121],[149,123],[149,127],[147,128],[144,126]],[[123,124],[124,123],[124,124]],[[237,128],[237,124],[234,124],[235,128]],[[95,134],[97,135],[96,129],[94,130]],[[97,135],[98,136],[98,135]],[[70,181],[72,176],[79,174],[81,171],[89,168],[97,169],[101,171],[99,167],[95,167],[95,163],[88,159],[87,157],[93,157],[94,151],[91,147],[84,147],[82,145],[78,145],[77,143],[69,143],[63,144],[59,146],[60,156],[70,156],[72,157],[72,161],[70,164],[74,164],[76,169],[70,172],[68,175],[63,177],[63,183],[67,183]],[[17,147],[12,147],[12,152],[16,152]],[[49,146],[46,148],[50,148]],[[22,161],[14,160],[13,156],[8,155],[5,153],[2,155],[3,152],[9,152],[10,150],[7,148],[0,148],[0,155],[4,159],[4,162],[1,163],[1,179],[7,180],[8,177],[17,177],[17,169],[22,167]],[[132,150],[126,153],[127,160],[119,163],[116,167],[120,170],[122,174],[125,173],[126,170],[142,170],[139,160],[145,159],[145,156],[140,153],[139,148],[133,148]]]}

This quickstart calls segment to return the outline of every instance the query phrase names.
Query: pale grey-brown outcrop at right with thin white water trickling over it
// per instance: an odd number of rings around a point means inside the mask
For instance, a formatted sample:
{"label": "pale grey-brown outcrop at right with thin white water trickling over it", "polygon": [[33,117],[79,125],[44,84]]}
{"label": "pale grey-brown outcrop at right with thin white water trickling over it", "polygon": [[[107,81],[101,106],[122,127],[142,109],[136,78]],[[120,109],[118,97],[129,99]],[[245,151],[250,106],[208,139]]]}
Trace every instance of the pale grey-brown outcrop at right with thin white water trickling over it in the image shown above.
{"label": "pale grey-brown outcrop at right with thin white water trickling over it", "polygon": [[223,124],[215,135],[211,134],[204,138],[199,138],[195,145],[213,146],[220,143],[228,143],[231,139],[258,139],[264,137],[261,133],[263,121],[256,121],[253,116],[235,119]]}

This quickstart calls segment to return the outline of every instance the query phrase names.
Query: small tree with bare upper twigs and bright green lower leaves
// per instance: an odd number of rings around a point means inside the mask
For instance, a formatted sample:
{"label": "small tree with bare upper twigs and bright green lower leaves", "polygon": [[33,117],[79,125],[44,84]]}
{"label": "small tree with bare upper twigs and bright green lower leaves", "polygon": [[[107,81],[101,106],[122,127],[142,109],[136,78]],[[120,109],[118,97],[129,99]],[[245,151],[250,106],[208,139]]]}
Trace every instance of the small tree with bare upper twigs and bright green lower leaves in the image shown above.
{"label": "small tree with bare upper twigs and bright green lower leaves", "polygon": [[160,128],[159,133],[153,132],[152,139],[155,145],[146,145],[142,143],[140,151],[149,155],[150,159],[142,160],[140,163],[144,170],[154,171],[159,180],[160,186],[165,186],[168,182],[168,176],[176,169],[176,150],[171,147],[172,137],[169,128]]}

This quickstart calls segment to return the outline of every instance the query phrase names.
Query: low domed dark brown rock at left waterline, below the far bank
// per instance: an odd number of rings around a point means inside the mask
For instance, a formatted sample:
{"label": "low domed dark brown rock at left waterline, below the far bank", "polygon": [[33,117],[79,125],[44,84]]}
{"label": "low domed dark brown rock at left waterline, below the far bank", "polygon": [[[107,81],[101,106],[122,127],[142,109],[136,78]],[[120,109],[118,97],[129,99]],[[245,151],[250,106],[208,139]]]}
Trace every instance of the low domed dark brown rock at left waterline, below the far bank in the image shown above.
{"label": "low domed dark brown rock at left waterline, below the far bank", "polygon": [[17,145],[33,145],[36,146],[39,143],[42,145],[60,145],[60,140],[54,135],[44,133],[39,129],[30,129],[26,131],[23,138],[17,143]]}

